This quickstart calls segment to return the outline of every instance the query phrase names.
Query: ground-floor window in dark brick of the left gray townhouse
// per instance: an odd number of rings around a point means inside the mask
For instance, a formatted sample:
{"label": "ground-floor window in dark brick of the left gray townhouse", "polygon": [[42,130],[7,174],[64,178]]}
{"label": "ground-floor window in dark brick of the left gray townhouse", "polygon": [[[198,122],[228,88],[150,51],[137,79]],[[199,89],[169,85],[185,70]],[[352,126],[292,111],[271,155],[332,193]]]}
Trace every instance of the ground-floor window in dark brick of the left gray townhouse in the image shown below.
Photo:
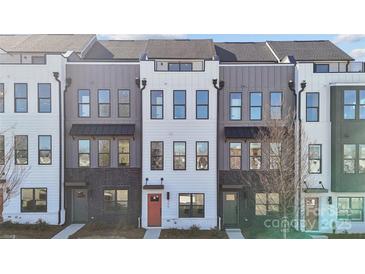
{"label": "ground-floor window in dark brick of the left gray townhouse", "polygon": [[105,189],[104,211],[109,213],[126,213],[128,210],[128,190]]}

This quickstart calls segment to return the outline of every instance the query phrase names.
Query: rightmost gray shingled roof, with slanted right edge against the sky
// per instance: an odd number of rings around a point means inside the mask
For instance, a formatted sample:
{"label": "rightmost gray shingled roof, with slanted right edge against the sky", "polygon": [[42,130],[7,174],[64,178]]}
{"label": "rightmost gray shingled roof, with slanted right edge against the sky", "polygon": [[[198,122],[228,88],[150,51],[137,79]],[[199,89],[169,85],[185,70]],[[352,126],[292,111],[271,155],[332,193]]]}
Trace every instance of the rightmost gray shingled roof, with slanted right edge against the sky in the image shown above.
{"label": "rightmost gray shingled roof, with slanted right edge against the sky", "polygon": [[293,56],[297,61],[352,61],[353,58],[328,40],[268,41],[275,55],[282,60]]}

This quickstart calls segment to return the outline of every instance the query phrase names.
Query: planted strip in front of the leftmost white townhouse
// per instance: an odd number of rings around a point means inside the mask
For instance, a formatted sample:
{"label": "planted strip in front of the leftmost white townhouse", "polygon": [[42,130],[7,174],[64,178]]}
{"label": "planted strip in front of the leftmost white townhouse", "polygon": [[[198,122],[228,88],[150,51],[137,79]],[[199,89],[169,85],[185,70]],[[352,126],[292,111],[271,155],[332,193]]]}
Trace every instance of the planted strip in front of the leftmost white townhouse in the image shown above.
{"label": "planted strip in front of the leftmost white townhouse", "polygon": [[50,239],[63,228],[42,222],[37,224],[5,222],[0,224],[0,239]]}

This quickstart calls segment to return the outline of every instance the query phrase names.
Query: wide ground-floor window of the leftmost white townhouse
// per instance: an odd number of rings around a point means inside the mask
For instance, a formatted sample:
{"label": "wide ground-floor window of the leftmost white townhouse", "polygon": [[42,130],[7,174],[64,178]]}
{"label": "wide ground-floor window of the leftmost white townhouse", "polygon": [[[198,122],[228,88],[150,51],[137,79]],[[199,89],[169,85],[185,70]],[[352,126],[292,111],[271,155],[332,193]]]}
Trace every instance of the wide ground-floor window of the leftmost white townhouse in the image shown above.
{"label": "wide ground-floor window of the leftmost white townhouse", "polygon": [[47,212],[46,188],[22,188],[21,189],[22,212]]}

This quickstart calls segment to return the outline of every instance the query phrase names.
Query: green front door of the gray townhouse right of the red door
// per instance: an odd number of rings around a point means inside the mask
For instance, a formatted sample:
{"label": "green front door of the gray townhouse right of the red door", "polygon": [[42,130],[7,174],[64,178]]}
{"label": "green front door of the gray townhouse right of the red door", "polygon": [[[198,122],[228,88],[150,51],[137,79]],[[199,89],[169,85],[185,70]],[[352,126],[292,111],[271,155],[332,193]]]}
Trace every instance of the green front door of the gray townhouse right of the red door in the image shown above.
{"label": "green front door of the gray townhouse right of the red door", "polygon": [[223,192],[223,225],[226,227],[238,226],[238,192]]}

